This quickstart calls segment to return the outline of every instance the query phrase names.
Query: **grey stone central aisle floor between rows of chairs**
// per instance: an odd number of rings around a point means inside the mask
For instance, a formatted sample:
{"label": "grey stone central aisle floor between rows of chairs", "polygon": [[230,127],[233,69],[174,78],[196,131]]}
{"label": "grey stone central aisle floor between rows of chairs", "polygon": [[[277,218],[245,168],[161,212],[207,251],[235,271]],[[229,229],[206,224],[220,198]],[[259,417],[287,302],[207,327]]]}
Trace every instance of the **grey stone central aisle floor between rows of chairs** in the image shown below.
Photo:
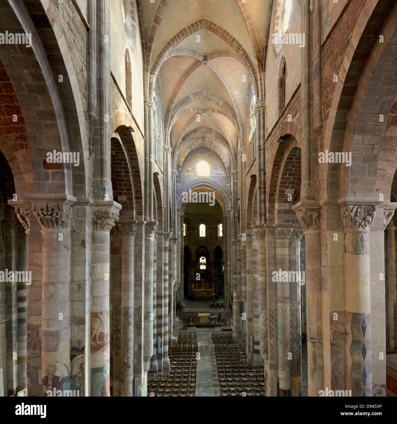
{"label": "grey stone central aisle floor between rows of chairs", "polygon": [[196,396],[220,396],[215,345],[211,340],[212,329],[197,329],[198,351]]}

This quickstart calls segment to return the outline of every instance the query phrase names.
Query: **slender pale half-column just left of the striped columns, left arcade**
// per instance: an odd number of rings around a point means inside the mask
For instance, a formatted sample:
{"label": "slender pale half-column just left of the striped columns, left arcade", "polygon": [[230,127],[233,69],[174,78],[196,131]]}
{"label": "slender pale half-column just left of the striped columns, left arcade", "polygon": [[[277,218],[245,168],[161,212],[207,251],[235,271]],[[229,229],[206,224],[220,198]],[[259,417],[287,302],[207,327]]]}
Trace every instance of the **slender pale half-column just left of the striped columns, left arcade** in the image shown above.
{"label": "slender pale half-column just left of the striped columns, left arcade", "polygon": [[144,370],[149,371],[153,356],[153,249],[155,243],[156,223],[145,224],[145,282],[144,282]]}

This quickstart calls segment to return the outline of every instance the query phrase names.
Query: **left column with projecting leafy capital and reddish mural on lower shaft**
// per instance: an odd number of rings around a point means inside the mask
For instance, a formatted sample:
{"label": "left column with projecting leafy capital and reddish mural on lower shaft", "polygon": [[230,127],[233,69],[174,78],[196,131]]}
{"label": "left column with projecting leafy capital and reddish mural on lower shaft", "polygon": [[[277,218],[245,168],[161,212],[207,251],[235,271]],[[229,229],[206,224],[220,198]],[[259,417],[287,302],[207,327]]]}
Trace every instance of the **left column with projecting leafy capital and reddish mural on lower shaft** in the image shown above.
{"label": "left column with projecting leafy capital and reddish mural on lower shaft", "polygon": [[118,221],[119,210],[120,205],[113,201],[102,202],[92,209],[91,396],[110,396],[109,232]]}

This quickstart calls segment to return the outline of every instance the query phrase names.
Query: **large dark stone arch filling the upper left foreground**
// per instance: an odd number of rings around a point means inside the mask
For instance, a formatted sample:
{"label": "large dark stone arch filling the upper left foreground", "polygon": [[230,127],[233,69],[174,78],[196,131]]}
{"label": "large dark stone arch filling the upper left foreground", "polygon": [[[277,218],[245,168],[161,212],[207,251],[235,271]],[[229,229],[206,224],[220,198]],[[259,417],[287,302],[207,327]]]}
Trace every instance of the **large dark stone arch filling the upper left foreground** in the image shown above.
{"label": "large dark stone arch filling the upper left foreground", "polygon": [[[32,36],[31,48],[4,45],[1,49],[1,61],[19,101],[30,148],[28,150],[21,144],[13,157],[14,161],[19,161],[23,156],[19,168],[28,181],[23,194],[65,192],[85,196],[87,187],[90,187],[90,183],[87,184],[90,174],[85,172],[90,155],[85,114],[76,88],[71,55],[60,25],[57,25],[56,12],[51,11],[53,4],[50,3],[47,10],[55,17],[50,23],[39,1],[35,1],[35,7],[29,10],[22,3],[13,9],[10,3],[3,5],[2,13],[9,19],[0,24],[0,32],[8,30],[31,33]],[[70,60],[66,60],[66,56]],[[62,84],[58,82],[59,75],[63,76]],[[47,164],[46,153],[54,149],[78,152],[79,166]]]}

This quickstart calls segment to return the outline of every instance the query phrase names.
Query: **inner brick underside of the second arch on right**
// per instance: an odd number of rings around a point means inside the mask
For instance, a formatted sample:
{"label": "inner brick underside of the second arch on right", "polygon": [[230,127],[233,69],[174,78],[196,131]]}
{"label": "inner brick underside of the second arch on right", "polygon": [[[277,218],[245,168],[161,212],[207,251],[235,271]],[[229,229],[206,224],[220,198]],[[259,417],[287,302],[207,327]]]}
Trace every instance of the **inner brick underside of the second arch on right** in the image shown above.
{"label": "inner brick underside of the second arch on right", "polygon": [[[293,223],[293,204],[300,200],[301,192],[301,149],[291,145],[285,152],[276,189],[274,222]],[[292,201],[288,200],[292,195]]]}

